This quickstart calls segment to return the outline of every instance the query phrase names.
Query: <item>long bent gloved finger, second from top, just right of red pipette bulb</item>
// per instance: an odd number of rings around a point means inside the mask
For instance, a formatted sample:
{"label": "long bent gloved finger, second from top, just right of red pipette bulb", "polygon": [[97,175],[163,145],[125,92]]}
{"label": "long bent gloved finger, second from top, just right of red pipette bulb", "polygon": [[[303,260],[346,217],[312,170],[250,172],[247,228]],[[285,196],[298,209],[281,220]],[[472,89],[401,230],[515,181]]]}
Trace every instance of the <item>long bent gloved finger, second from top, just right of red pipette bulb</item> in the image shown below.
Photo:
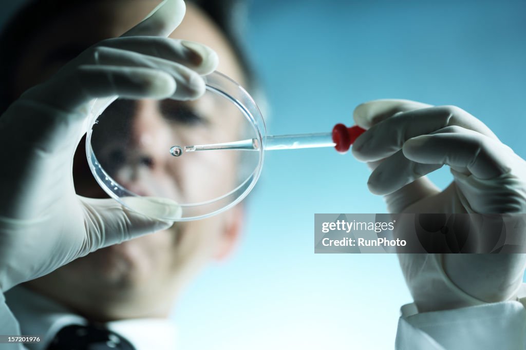
{"label": "long bent gloved finger, second from top, just right of red pipette bulb", "polygon": [[399,112],[377,123],[355,141],[352,153],[362,161],[386,158],[400,150],[410,138],[448,126],[460,126],[497,140],[484,123],[458,107],[429,107]]}

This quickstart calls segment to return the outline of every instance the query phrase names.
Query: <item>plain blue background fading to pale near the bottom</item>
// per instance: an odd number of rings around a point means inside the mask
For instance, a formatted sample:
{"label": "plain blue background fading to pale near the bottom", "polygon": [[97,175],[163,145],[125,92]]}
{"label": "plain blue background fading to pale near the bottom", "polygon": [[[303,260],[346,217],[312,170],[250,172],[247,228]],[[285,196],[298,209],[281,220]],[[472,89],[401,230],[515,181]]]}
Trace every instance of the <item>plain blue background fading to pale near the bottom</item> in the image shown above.
{"label": "plain blue background fading to pale near the bottom", "polygon": [[[2,6],[0,23],[18,4]],[[330,131],[361,102],[406,98],[466,109],[525,158],[524,13],[524,1],[252,0],[268,134]],[[313,254],[314,213],[386,211],[368,176],[330,149],[268,152],[237,254],[174,310],[181,346],[392,348],[411,301],[396,256]]]}

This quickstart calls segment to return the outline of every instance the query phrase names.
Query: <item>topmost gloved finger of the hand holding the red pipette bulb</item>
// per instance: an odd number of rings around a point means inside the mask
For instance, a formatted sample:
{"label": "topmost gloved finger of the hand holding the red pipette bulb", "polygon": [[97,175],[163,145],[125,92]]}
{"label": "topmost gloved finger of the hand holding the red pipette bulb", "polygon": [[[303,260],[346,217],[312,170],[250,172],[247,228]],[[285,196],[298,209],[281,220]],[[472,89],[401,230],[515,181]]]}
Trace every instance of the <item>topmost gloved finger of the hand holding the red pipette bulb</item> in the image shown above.
{"label": "topmost gloved finger of the hand holding the red pipette bulb", "polygon": [[402,99],[380,99],[368,101],[358,105],[352,112],[356,125],[369,129],[382,120],[392,117],[399,112],[433,107],[422,102]]}

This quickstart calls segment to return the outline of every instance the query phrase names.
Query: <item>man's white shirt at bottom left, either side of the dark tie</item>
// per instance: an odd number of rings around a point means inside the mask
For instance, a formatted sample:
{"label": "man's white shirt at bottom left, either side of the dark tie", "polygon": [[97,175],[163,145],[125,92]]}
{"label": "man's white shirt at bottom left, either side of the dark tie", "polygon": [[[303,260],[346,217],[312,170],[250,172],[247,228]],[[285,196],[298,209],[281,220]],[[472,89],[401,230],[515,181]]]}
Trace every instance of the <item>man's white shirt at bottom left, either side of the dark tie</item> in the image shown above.
{"label": "man's white shirt at bottom left, either side of the dark tie", "polygon": [[[22,286],[14,287],[4,296],[0,293],[0,330],[2,334],[40,335],[37,344],[25,344],[29,350],[44,350],[55,334],[67,325],[85,325],[85,318],[64,306]],[[9,306],[7,308],[6,304]],[[9,312],[11,309],[11,312]],[[112,321],[106,327],[126,338],[137,350],[173,350],[176,348],[175,324],[164,318],[137,318]],[[6,332],[7,331],[7,332]],[[0,344],[0,349],[23,349],[13,344]]]}

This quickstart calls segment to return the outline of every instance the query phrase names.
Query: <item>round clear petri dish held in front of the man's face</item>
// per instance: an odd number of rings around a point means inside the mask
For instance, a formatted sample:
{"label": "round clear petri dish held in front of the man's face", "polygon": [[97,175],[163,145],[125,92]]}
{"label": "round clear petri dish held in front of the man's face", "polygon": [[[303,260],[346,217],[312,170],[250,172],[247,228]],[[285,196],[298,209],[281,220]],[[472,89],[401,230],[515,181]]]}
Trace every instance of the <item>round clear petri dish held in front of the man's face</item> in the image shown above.
{"label": "round clear petri dish held in front of the man's face", "polygon": [[[99,186],[136,212],[190,221],[225,211],[254,188],[266,127],[254,99],[214,72],[193,101],[96,99],[86,156]],[[185,146],[255,139],[255,150],[187,152]]]}

